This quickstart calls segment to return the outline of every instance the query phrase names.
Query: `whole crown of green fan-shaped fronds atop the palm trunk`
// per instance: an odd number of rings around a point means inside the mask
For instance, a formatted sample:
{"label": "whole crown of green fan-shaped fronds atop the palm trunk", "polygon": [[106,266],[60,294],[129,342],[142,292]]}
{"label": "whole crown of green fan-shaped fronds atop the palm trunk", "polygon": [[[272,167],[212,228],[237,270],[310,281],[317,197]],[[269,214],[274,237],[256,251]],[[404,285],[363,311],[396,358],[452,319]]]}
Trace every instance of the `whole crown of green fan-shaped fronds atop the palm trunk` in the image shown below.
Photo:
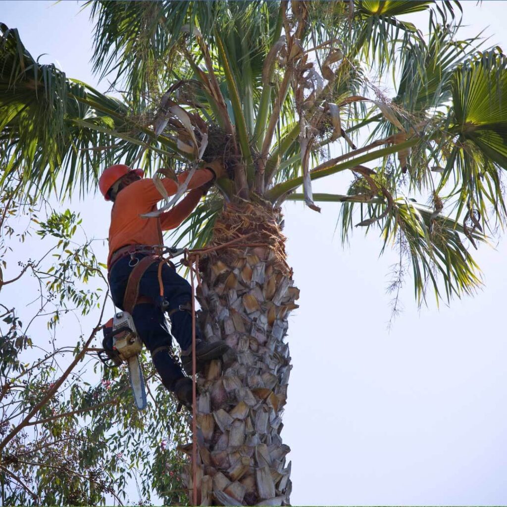
{"label": "whole crown of green fan-shaped fronds atop the palm trunk", "polygon": [[[17,32],[3,26],[5,183],[22,172],[43,191],[59,188],[63,195],[77,186],[86,191],[104,164],[132,163],[141,152],[139,163],[148,171],[165,164],[183,167],[195,153],[178,150],[188,129],[180,138],[182,123],[161,108],[166,97],[182,108],[180,115],[188,115],[196,133],[207,129],[212,142],[204,160],[222,157],[229,169],[219,182],[222,190],[175,232],[180,240],[203,245],[223,199],[255,200],[258,193],[274,204],[303,199],[293,192],[303,182],[304,123],[314,147],[311,179],[350,170],[351,188],[361,178],[370,182],[365,192],[314,194],[315,200],[343,204],[344,236],[358,221],[367,231],[379,227],[384,247],[402,234],[419,299],[428,283],[440,297],[439,280],[448,298],[479,283],[463,244],[484,239],[475,222],[470,228],[471,217],[487,228],[493,211],[504,222],[499,167],[507,162],[507,85],[503,55],[478,53],[477,38],[456,39],[459,4],[95,0],[85,5],[97,23],[94,68],[113,88],[124,90],[122,99],[38,64]],[[430,27],[424,40],[401,18],[423,11]],[[282,34],[285,42],[267,65]],[[370,85],[361,70],[364,62],[378,73],[389,69],[396,76],[401,70],[392,102]],[[279,114],[273,115],[280,98]],[[155,118],[159,125],[168,121],[158,136]],[[369,146],[356,148],[351,137],[371,126]],[[325,149],[333,142],[342,155],[326,160]],[[396,163],[403,150],[404,164]],[[372,163],[375,171],[362,165]],[[260,167],[264,181],[257,178]],[[414,190],[434,192],[450,218],[443,208],[425,209],[401,197]],[[362,213],[360,220],[355,210]],[[439,227],[443,232],[437,235]]]}

